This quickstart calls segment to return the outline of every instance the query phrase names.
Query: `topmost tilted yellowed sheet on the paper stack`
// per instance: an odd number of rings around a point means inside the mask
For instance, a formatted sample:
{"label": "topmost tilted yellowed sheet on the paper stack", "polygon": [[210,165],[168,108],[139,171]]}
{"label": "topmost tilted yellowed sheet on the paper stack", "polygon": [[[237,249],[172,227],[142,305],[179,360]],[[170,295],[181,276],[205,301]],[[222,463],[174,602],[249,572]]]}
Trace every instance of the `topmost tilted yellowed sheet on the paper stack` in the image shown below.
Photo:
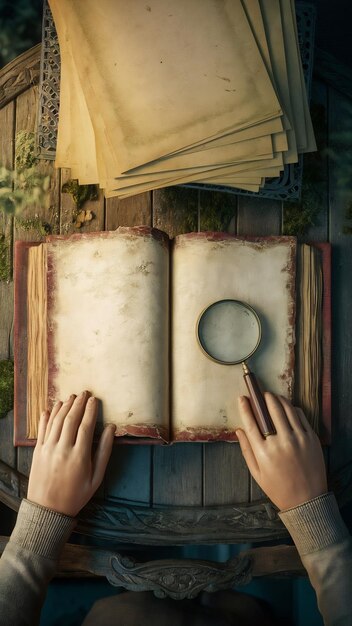
{"label": "topmost tilted yellowed sheet on the paper stack", "polygon": [[[88,108],[103,120],[121,172],[281,114],[240,3],[227,0],[221,11],[215,0],[152,0],[148,6],[60,0],[60,6]],[[209,57],[204,50],[212,51]]]}

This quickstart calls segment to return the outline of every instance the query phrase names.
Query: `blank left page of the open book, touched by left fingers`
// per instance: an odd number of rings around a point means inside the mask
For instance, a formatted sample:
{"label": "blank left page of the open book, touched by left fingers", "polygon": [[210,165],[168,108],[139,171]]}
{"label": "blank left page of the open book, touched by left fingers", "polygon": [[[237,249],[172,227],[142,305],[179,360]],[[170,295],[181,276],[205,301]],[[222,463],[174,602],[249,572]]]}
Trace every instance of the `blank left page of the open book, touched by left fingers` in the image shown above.
{"label": "blank left page of the open book, touched by left fingers", "polygon": [[149,228],[51,238],[49,404],[88,389],[116,434],[168,437],[168,240]]}

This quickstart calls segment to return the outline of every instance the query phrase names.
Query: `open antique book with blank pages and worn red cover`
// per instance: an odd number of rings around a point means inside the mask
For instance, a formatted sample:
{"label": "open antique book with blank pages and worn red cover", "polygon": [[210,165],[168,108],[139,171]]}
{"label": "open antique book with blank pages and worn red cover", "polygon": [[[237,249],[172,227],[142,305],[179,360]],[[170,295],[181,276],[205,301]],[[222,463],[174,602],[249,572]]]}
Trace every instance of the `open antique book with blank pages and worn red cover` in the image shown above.
{"label": "open antique book with blank pages and worn red cover", "polygon": [[[296,247],[293,237],[218,232],[169,240],[145,226],[18,242],[15,442],[28,445],[43,408],[82,389],[101,400],[98,426],[115,423],[117,437],[236,441],[242,368],[207,358],[197,320],[217,300],[252,306],[262,340],[249,365],[263,389],[292,398]],[[319,372],[315,378],[318,387]]]}

